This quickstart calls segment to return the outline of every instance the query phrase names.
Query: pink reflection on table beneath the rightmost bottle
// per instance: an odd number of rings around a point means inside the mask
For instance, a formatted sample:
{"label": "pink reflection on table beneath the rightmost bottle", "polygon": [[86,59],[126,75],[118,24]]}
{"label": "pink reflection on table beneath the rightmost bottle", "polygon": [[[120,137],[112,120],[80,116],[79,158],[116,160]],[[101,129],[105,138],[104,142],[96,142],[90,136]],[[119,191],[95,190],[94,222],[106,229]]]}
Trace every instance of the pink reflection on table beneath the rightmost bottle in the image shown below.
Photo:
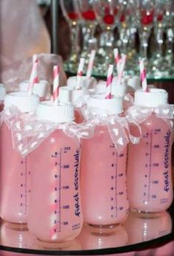
{"label": "pink reflection on table beneath the rightmost bottle", "polygon": [[125,221],[128,243],[141,243],[167,235],[172,230],[172,220],[168,212],[131,212]]}

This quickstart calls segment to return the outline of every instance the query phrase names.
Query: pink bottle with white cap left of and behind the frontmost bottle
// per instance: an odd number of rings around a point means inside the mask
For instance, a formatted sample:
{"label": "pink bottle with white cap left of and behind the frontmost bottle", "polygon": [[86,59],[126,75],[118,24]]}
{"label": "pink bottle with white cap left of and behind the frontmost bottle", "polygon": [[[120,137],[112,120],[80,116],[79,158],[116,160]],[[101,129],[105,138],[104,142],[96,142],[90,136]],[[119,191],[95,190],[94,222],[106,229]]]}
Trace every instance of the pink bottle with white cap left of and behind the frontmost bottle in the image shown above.
{"label": "pink bottle with white cap left of and behind the frontmost bottle", "polygon": [[[4,98],[4,109],[8,111],[14,105],[23,113],[31,113],[35,111],[38,101],[37,95],[27,96],[25,92],[14,92]],[[12,131],[5,121],[0,127],[0,215],[5,221],[26,224],[31,170],[28,157],[22,158],[13,148]]]}

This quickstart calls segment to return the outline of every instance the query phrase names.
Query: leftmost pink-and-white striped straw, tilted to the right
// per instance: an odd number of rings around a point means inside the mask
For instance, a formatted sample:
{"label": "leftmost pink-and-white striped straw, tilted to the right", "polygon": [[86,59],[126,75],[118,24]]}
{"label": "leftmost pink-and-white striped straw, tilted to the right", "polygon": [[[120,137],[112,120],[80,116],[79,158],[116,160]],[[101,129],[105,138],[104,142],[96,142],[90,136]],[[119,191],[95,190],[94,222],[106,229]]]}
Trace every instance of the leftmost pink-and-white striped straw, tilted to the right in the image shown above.
{"label": "leftmost pink-and-white striped straw, tilted to the right", "polygon": [[35,83],[38,83],[38,58],[37,55],[32,57],[32,72],[29,77],[29,86],[27,89],[28,96],[32,94]]}

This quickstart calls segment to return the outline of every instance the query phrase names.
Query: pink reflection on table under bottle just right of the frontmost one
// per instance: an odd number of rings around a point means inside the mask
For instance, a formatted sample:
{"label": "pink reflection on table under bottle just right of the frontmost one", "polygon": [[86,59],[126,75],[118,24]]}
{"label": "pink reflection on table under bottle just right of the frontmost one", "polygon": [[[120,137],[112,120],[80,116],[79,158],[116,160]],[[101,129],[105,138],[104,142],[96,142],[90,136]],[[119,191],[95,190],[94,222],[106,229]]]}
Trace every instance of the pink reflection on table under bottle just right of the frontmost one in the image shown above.
{"label": "pink reflection on table under bottle just right of the frontmost one", "polygon": [[125,246],[128,243],[128,234],[122,225],[113,228],[83,225],[82,232],[78,235],[82,249],[104,249]]}

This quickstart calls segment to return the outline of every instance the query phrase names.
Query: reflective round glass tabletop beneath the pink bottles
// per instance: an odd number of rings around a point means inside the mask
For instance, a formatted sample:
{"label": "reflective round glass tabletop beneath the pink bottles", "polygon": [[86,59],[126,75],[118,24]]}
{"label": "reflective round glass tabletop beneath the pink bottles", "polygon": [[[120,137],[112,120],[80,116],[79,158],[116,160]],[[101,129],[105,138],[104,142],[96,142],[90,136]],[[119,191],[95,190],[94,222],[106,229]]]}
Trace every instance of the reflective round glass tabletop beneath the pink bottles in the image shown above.
{"label": "reflective round glass tabletop beneath the pink bottles", "polygon": [[32,255],[107,255],[132,252],[173,241],[173,221],[174,204],[166,212],[130,212],[122,225],[102,228],[84,224],[76,239],[58,244],[38,241],[27,226],[7,224],[1,220],[0,250]]}

